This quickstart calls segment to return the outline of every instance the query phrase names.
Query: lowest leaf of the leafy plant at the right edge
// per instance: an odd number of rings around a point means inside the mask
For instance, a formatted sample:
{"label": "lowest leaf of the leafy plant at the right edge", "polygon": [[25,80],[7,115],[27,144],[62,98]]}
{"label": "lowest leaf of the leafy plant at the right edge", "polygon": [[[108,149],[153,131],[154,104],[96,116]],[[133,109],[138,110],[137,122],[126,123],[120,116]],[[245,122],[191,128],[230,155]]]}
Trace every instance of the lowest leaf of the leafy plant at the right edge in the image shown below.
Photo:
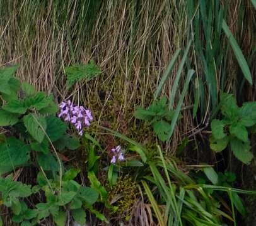
{"label": "lowest leaf of the leafy plant at the right edge", "polygon": [[238,139],[231,139],[231,150],[237,159],[245,164],[249,164],[253,159],[253,154],[250,151],[251,146],[249,143],[243,143]]}

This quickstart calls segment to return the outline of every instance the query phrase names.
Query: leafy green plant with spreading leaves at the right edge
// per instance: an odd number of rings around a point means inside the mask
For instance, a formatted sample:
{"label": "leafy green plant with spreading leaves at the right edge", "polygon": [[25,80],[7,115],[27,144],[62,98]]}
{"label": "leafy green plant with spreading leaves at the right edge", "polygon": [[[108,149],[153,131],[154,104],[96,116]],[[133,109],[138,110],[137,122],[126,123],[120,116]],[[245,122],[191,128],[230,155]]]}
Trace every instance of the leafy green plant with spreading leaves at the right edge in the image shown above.
{"label": "leafy green plant with spreading leaves at the right edge", "polygon": [[256,102],[245,102],[238,107],[235,97],[224,93],[221,95],[220,108],[223,119],[211,122],[211,149],[219,152],[230,145],[236,158],[249,164],[253,154],[248,129],[256,124]]}

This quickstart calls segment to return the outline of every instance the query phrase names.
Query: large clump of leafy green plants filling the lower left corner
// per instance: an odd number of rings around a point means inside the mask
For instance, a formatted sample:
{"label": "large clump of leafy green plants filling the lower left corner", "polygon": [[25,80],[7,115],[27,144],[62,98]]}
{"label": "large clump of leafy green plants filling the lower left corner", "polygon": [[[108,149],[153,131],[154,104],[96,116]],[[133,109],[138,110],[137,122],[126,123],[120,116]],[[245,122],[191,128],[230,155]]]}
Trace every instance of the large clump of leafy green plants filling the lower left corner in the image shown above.
{"label": "large clump of leafy green plants filling the lower left corner", "polygon": [[[33,188],[13,181],[11,177],[0,178],[3,204],[11,208],[13,222],[23,226],[36,225],[52,216],[56,225],[64,226],[69,212],[74,221],[84,224],[85,210],[108,222],[93,208],[99,194],[102,195],[102,189],[97,191],[96,176],[90,177],[91,187],[81,186],[74,181],[79,170],[71,168],[65,171],[59,158],[59,151],[80,147],[78,137],[70,136],[67,124],[55,116],[58,107],[53,96],[37,92],[28,83],[20,83],[13,76],[17,68],[0,70],[0,79],[3,80],[0,83],[0,97],[3,99],[0,126],[9,130],[8,136],[1,136],[0,175],[20,166],[38,166],[40,172],[38,185]],[[45,196],[46,202],[37,203],[36,208],[28,208],[24,198],[38,192]]]}

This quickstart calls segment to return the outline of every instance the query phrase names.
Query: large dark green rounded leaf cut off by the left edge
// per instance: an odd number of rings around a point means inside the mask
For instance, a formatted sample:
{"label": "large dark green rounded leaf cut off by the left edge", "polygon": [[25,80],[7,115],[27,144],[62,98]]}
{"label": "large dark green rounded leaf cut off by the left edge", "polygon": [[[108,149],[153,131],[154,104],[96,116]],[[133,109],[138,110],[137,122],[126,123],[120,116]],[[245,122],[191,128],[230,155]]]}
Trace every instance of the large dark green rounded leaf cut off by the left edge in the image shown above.
{"label": "large dark green rounded leaf cut off by the left edge", "polygon": [[6,143],[0,144],[0,175],[19,166],[23,166],[30,159],[30,146],[10,137]]}

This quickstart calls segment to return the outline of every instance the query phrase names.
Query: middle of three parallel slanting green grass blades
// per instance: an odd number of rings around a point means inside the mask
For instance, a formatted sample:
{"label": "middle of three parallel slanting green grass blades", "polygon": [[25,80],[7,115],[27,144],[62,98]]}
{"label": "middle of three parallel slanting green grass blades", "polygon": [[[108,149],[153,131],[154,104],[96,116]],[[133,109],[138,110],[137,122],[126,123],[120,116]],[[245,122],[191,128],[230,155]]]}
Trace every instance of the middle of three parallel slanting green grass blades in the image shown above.
{"label": "middle of three parallel slanting green grass blades", "polygon": [[178,72],[177,72],[176,78],[173,82],[173,87],[172,87],[172,91],[171,91],[171,94],[170,94],[169,109],[173,109],[175,95],[176,95],[176,92],[177,92],[177,89],[178,89],[178,82],[180,81],[180,77],[182,75],[182,70],[183,70],[183,67],[185,65],[185,61],[187,60],[187,55],[189,53],[191,43],[192,43],[192,41],[190,40],[189,43],[187,44],[186,49],[185,49],[184,55],[182,57],[182,61],[180,62],[180,67],[178,67]]}

